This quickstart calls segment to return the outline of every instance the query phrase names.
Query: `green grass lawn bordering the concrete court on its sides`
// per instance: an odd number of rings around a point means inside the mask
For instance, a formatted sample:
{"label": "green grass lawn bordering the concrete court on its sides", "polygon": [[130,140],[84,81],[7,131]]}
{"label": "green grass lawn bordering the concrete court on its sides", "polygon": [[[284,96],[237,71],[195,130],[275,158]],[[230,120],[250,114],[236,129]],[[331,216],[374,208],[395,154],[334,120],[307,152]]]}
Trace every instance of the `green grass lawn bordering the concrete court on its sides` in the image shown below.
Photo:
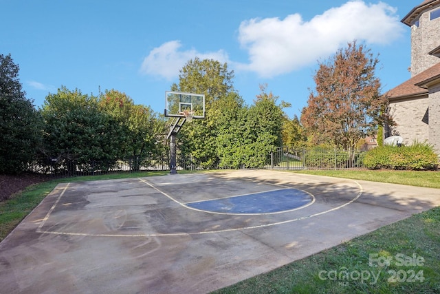
{"label": "green grass lawn bordering the concrete court on its sides", "polygon": [[[440,172],[434,171],[295,172],[440,189]],[[168,171],[66,178],[28,187],[0,203],[0,240],[60,182],[164,174]],[[214,293],[440,293],[439,260],[437,207]]]}

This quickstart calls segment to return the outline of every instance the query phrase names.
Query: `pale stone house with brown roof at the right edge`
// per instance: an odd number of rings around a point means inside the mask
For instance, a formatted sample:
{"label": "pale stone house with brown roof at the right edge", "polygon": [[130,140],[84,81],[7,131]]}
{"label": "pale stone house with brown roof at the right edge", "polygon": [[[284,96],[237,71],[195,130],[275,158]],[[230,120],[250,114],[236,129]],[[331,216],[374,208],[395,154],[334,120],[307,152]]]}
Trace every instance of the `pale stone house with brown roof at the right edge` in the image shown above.
{"label": "pale stone house with brown roof at the right edge", "polygon": [[411,30],[411,78],[386,93],[395,133],[440,154],[440,0],[423,1],[401,22]]}

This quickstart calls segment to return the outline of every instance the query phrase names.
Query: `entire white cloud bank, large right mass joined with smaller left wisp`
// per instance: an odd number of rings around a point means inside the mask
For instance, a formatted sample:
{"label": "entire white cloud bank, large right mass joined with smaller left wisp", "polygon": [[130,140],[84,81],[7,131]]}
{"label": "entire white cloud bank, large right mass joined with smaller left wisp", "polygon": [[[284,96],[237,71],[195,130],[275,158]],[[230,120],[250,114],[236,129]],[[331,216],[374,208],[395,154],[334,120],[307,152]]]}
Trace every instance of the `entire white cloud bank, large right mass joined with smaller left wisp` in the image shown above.
{"label": "entire white cloud bank, large right mass joined with smaller left wisp", "polygon": [[267,18],[243,21],[239,27],[239,43],[249,54],[249,63],[236,63],[223,50],[198,52],[182,50],[180,41],[168,41],[149,52],[140,72],[160,76],[168,81],[196,56],[228,62],[235,70],[256,72],[273,77],[298,70],[327,58],[347,42],[358,40],[367,45],[386,45],[404,31],[396,9],[386,3],[366,4],[362,0],[348,1],[304,21],[300,14],[285,19]]}

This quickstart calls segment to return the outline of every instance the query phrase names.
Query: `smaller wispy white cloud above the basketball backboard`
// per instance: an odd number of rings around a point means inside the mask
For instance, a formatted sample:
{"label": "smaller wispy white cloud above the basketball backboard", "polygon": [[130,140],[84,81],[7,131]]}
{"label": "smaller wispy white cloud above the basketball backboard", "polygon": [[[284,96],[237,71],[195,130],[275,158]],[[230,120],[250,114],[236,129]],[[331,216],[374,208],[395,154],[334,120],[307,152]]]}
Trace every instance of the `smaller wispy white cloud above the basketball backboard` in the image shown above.
{"label": "smaller wispy white cloud above the basketball backboard", "polygon": [[200,53],[195,49],[181,51],[180,48],[180,41],[169,41],[154,48],[144,58],[140,72],[172,80],[179,76],[179,70],[190,59],[195,59],[195,57],[199,57],[199,59],[214,59],[222,63],[228,62],[228,54],[223,50]]}

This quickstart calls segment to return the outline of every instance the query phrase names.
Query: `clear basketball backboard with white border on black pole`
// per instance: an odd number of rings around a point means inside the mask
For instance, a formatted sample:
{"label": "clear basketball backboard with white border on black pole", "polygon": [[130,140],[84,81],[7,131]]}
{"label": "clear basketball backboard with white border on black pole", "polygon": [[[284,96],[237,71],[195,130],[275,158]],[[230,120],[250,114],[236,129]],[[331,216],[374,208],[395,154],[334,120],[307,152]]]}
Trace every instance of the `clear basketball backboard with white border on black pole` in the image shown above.
{"label": "clear basketball backboard with white border on black pole", "polygon": [[165,92],[165,116],[185,117],[184,112],[194,112],[192,118],[205,118],[205,95]]}

